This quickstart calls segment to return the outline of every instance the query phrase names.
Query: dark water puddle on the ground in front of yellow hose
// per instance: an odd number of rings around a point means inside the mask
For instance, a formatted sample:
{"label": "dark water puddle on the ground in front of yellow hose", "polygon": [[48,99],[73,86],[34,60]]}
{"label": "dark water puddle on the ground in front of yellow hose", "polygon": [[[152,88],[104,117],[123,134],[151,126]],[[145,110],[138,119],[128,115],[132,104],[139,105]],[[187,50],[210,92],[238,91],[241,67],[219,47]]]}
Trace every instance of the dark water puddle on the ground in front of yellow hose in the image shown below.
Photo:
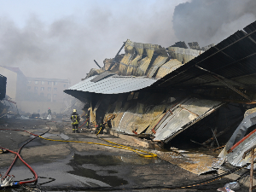
{"label": "dark water puddle on the ground in front of yellow hose", "polygon": [[[146,165],[150,163],[159,163],[161,161],[162,160],[158,158],[147,159],[143,157],[134,157],[134,155],[124,157],[103,154],[74,154],[73,160],[70,160],[68,165],[73,166],[73,171],[69,172],[73,175],[96,179],[103,183],[107,183],[110,186],[116,187],[128,183],[123,178],[118,177],[119,172],[123,172],[123,167],[125,167],[125,164]],[[113,166],[115,168],[113,168]],[[117,166],[119,166],[119,169],[116,169]]]}

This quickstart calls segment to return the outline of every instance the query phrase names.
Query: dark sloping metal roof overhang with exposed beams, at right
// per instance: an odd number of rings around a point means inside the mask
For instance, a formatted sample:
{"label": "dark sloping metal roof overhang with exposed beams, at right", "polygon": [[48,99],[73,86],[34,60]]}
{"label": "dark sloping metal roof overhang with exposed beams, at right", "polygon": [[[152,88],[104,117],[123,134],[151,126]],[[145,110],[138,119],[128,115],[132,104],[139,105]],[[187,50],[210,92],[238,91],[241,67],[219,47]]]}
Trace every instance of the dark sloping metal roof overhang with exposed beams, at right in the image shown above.
{"label": "dark sloping metal roof overhang with exposed beams, at right", "polygon": [[[153,86],[255,90],[256,22],[177,68]],[[241,93],[240,93],[241,94]],[[248,99],[245,95],[243,96]]]}

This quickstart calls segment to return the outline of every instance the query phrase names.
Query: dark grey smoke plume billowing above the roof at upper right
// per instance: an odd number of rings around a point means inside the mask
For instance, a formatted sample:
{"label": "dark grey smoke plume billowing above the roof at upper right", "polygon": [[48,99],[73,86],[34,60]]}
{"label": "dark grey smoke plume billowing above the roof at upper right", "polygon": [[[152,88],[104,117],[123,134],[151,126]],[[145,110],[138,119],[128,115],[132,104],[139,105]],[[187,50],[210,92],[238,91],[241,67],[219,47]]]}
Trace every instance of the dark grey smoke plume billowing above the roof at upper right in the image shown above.
{"label": "dark grey smoke plume billowing above the roof at upper right", "polygon": [[192,0],[175,8],[173,29],[186,43],[218,44],[255,21],[255,8],[255,0]]}

